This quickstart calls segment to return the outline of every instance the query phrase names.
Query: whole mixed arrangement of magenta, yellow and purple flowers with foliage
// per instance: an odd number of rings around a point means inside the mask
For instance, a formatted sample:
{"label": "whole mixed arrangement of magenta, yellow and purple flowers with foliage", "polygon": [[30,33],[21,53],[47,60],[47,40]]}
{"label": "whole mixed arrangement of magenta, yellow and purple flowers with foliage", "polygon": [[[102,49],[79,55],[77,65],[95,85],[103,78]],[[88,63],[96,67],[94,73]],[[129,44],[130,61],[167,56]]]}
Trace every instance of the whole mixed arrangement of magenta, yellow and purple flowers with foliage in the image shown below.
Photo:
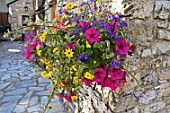
{"label": "whole mixed arrangement of magenta, yellow and purple flowers with foliage", "polygon": [[100,2],[69,2],[53,27],[38,26],[25,34],[23,55],[49,77],[55,94],[78,100],[80,87],[92,82],[115,90],[126,83],[127,55],[136,45],[127,36],[127,23]]}

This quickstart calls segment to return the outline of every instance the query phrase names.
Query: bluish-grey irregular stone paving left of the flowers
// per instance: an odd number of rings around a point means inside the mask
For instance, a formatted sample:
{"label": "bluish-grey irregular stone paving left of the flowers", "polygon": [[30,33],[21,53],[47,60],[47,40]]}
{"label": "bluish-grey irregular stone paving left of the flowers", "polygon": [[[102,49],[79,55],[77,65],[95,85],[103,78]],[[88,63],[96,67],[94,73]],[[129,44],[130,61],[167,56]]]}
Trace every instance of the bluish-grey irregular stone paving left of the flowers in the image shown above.
{"label": "bluish-grey irregular stone paving left of the flowers", "polygon": [[[41,113],[41,103],[47,103],[48,78],[34,74],[35,65],[28,63],[20,52],[20,41],[0,42],[0,113]],[[52,102],[53,109],[46,113],[66,112],[59,98]]]}

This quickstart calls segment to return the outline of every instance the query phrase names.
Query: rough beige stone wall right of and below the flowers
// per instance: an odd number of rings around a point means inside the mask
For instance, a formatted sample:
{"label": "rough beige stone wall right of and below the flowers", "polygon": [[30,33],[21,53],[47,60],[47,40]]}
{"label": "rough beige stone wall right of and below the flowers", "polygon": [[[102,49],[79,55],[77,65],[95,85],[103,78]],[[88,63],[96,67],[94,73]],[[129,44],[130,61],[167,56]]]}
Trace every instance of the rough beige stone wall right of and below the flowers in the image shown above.
{"label": "rough beige stone wall right of and below the flowers", "polygon": [[[111,92],[82,87],[81,113],[170,113],[170,1],[124,0],[130,35],[138,46],[129,58],[127,84]],[[76,104],[75,104],[76,105]]]}

